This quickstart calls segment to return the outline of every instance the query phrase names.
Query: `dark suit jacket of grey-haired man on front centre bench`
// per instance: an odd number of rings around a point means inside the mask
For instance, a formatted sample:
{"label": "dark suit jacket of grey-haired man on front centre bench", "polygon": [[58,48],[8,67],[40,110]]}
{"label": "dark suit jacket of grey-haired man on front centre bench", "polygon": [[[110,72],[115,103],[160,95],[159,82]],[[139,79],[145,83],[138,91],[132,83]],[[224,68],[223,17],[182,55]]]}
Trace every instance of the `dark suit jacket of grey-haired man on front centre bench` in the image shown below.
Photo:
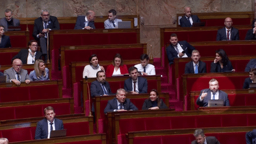
{"label": "dark suit jacket of grey-haired man on front centre bench", "polygon": [[[124,110],[138,110],[137,107],[130,101],[129,98],[126,98],[126,100],[123,103],[123,106]],[[108,101],[107,106],[104,109],[104,113],[112,112],[117,109],[117,98],[113,98],[112,100]]]}

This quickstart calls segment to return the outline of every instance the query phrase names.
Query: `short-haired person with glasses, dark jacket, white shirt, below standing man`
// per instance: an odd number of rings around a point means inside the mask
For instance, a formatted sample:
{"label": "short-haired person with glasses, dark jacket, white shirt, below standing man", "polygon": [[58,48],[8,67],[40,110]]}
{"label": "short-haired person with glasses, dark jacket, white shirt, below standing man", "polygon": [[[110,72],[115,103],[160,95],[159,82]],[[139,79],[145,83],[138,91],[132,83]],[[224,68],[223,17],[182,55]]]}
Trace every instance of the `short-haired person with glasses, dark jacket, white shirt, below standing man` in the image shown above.
{"label": "short-haired person with glasses, dark jacket, white shirt, below standing man", "polygon": [[35,60],[41,59],[42,53],[37,51],[37,41],[30,40],[28,41],[28,49],[22,49],[20,52],[12,57],[14,59],[20,59],[23,64],[34,64]]}

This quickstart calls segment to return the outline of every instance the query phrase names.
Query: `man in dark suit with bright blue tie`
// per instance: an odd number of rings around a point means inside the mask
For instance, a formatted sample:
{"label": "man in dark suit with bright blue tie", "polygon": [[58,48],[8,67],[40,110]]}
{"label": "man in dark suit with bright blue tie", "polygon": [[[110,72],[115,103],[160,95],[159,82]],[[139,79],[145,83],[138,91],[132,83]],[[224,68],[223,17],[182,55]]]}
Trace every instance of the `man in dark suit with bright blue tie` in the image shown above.
{"label": "man in dark suit with bright blue tie", "polygon": [[185,73],[206,73],[206,63],[201,62],[198,50],[192,51],[192,61],[186,63]]}

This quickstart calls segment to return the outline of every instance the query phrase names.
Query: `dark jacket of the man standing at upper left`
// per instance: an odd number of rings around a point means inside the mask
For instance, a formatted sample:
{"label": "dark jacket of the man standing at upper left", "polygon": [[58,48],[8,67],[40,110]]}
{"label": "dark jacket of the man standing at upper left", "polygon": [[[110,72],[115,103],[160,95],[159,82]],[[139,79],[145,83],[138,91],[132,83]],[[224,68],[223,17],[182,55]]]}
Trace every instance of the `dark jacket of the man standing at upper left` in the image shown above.
{"label": "dark jacket of the man standing at upper left", "polygon": [[[49,25],[47,25],[47,28],[50,28],[52,30],[59,30],[59,21],[57,20],[56,17],[50,15],[50,19],[49,19]],[[37,34],[41,33],[41,31],[43,31],[44,27],[43,27],[43,20],[41,17],[37,18],[34,21],[34,30],[33,30],[33,37],[36,40],[39,40],[37,38]]]}

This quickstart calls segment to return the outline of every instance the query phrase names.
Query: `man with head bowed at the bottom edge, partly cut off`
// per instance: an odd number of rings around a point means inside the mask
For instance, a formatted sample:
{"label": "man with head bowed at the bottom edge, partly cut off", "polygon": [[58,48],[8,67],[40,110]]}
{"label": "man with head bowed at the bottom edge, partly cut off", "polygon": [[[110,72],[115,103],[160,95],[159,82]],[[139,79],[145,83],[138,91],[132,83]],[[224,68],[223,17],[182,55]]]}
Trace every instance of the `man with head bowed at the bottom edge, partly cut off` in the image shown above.
{"label": "man with head bowed at the bottom edge, partly cut off", "polygon": [[191,144],[204,144],[205,141],[207,144],[220,144],[219,140],[217,140],[215,136],[206,137],[202,129],[196,129],[194,132],[194,137],[196,137],[196,140],[191,142]]}

